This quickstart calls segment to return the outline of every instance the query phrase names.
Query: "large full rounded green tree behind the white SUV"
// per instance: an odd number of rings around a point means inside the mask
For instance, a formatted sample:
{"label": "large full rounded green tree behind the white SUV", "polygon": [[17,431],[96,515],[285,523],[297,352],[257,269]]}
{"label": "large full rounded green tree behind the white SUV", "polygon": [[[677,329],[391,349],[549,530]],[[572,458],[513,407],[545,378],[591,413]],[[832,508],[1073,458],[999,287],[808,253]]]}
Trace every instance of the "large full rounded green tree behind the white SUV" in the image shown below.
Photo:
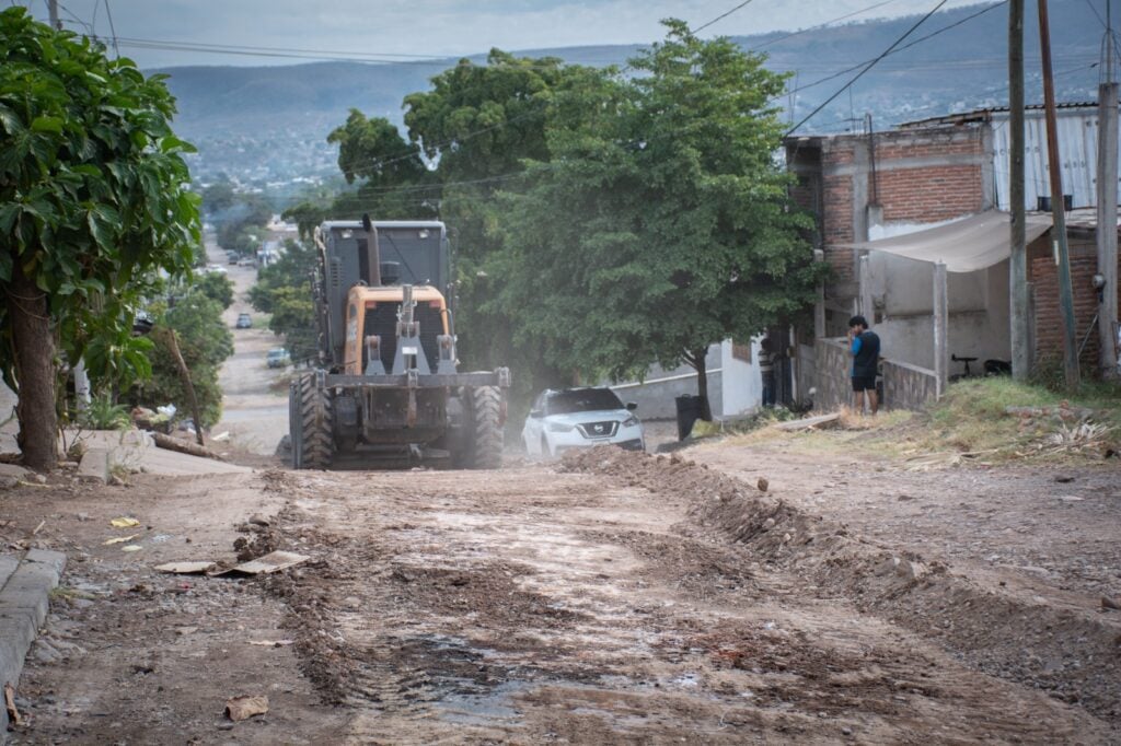
{"label": "large full rounded green tree behind the white SUV", "polygon": [[685,362],[707,413],[708,346],[803,313],[819,273],[772,155],[784,129],[767,102],[785,76],[666,26],[637,75],[566,94],[552,159],[503,201],[488,274],[506,279],[493,308],[516,342],[555,367],[618,379]]}

